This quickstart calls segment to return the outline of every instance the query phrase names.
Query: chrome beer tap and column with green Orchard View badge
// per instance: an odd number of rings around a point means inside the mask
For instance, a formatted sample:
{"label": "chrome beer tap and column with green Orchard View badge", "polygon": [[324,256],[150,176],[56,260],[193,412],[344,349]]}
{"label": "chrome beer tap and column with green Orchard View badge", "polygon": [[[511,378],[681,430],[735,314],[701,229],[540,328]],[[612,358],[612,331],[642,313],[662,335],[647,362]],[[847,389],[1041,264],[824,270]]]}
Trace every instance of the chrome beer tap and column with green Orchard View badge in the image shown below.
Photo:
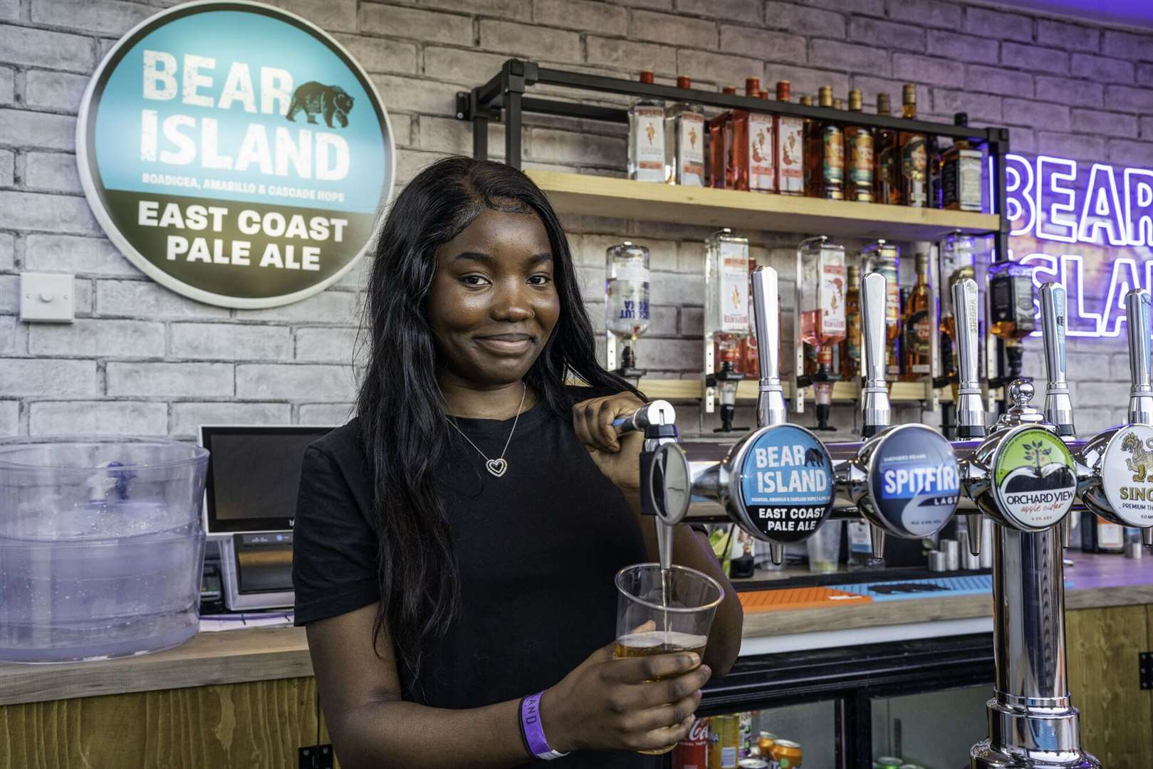
{"label": "chrome beer tap and column with green Orchard View badge", "polygon": [[1046,398],[1042,414],[1030,406],[1033,384],[1011,382],[1007,394],[1012,406],[962,462],[965,493],[997,523],[996,681],[987,706],[988,739],[970,752],[973,769],[1100,766],[1080,748],[1077,710],[1065,679],[1060,529],[1076,500],[1083,467],[1062,439],[1073,430],[1064,378],[1064,289],[1047,285],[1041,306],[1054,398]]}

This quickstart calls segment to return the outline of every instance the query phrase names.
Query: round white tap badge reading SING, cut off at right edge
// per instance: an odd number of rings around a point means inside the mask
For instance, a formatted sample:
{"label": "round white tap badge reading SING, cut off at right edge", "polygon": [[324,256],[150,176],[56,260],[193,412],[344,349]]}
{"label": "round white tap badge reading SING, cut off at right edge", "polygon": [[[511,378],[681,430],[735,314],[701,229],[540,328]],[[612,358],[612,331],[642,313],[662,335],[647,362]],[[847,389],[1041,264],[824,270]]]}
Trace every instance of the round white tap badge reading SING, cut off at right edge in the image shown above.
{"label": "round white tap badge reading SING, cut off at right edge", "polygon": [[1114,515],[1129,526],[1153,526],[1153,428],[1120,428],[1101,459],[1101,484]]}

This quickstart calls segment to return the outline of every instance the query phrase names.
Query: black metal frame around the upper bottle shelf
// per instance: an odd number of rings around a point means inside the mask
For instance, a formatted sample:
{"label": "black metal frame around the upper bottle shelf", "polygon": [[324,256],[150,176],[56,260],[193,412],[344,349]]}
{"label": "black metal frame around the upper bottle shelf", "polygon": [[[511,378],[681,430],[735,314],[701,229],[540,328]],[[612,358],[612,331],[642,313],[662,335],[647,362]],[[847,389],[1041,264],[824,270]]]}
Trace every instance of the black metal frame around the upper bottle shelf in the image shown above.
{"label": "black metal frame around the upper bottle shelf", "polygon": [[[792,101],[776,101],[747,96],[733,96],[685,89],[675,85],[641,83],[640,81],[589,75],[541,67],[533,61],[508,59],[500,71],[483,85],[472,91],[457,93],[457,118],[473,123],[473,157],[484,160],[489,157],[489,122],[505,125],[505,163],[514,168],[521,167],[521,129],[523,113],[557,115],[583,120],[601,120],[605,122],[627,123],[628,111],[560,99],[543,99],[527,96],[533,85],[552,85],[620,96],[650,97],[671,101],[687,101],[718,110],[740,108],[751,112],[812,118],[846,126],[868,126],[872,128],[891,128],[896,130],[914,130],[926,135],[947,136],[954,140],[964,138],[984,145],[993,159],[993,186],[990,209],[1001,216],[1001,227],[990,233],[994,239],[993,261],[1002,262],[1009,258],[1009,219],[1005,216],[1005,156],[1009,153],[1009,129],[1003,127],[974,128],[954,126],[925,120],[907,120],[905,118],[882,116],[865,112],[845,112],[828,107],[809,107]],[[1007,371],[1004,342],[997,340],[997,368]],[[992,377],[990,377],[992,378]]]}

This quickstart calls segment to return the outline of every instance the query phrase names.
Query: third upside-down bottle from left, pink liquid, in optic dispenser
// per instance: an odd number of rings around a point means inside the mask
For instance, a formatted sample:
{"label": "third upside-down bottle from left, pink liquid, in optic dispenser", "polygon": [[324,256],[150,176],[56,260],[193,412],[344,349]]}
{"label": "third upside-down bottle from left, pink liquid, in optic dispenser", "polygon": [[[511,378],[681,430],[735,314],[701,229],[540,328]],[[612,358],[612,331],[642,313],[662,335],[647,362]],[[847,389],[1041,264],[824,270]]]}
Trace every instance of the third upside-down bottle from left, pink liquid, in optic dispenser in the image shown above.
{"label": "third upside-down bottle from left, pink liquid, in optic dispenser", "polygon": [[812,239],[800,248],[800,337],[816,353],[811,378],[817,430],[828,430],[832,404],[832,350],[845,339],[845,249]]}

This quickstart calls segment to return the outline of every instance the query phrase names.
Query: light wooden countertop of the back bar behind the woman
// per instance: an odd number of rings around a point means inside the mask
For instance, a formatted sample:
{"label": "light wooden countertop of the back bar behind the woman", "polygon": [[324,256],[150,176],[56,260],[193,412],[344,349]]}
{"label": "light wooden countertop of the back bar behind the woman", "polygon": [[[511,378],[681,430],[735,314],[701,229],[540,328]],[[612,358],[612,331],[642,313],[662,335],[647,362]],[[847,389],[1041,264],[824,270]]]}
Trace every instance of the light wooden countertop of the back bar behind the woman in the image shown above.
{"label": "light wooden countertop of the back bar behind the woman", "polygon": [[[1079,551],[1067,551],[1067,556],[1075,561],[1073,566],[1065,566],[1068,611],[1153,605],[1153,557],[1130,559]],[[808,572],[794,568],[758,572],[754,579],[801,573]],[[990,598],[990,595],[918,597],[828,609],[746,612],[741,655],[815,648],[813,636],[821,633],[847,646],[992,632]],[[958,631],[955,623],[967,620],[984,625]],[[911,627],[932,631],[934,626],[939,632],[911,633]],[[48,665],[0,663],[0,706],[310,676],[312,665],[303,628],[223,631],[199,633],[175,649],[122,659]]]}

